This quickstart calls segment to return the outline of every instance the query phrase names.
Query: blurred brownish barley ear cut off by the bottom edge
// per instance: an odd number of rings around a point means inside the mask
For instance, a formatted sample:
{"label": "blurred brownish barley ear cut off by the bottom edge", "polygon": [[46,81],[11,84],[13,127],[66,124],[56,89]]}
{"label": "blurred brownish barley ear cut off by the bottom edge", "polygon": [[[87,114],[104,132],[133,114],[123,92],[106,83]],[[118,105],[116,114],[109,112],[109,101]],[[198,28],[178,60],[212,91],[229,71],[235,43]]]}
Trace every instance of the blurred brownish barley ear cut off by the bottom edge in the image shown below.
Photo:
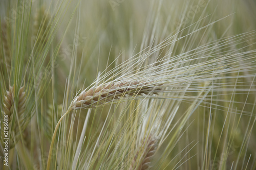
{"label": "blurred brownish barley ear cut off by the bottom edge", "polygon": [[150,163],[152,161],[152,157],[156,152],[156,139],[152,136],[149,136],[140,146],[140,150],[136,153],[132,164],[130,166],[130,170],[146,170],[150,168]]}

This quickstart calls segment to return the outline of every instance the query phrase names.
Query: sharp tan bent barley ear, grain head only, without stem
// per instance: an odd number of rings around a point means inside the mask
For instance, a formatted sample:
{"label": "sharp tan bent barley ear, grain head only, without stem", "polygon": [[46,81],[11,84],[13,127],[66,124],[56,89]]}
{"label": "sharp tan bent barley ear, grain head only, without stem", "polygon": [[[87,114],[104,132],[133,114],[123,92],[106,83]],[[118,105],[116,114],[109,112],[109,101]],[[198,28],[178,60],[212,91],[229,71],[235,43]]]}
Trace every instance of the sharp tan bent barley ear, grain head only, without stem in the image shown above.
{"label": "sharp tan bent barley ear, grain head only, without stem", "polygon": [[157,94],[161,91],[161,85],[146,81],[119,81],[101,84],[89,90],[83,90],[72,102],[71,108],[76,110],[96,107],[115,102],[124,95]]}

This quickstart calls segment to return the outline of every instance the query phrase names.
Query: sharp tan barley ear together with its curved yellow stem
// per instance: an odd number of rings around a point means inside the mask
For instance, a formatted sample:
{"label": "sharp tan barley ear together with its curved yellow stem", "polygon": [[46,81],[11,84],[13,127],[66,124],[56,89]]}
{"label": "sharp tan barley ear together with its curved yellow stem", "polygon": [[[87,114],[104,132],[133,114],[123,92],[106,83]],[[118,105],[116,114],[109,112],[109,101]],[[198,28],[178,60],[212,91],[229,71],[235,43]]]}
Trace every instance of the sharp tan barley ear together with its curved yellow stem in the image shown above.
{"label": "sharp tan barley ear together with its curved yellow stem", "polygon": [[71,106],[64,113],[56,127],[52,136],[52,141],[49,149],[49,156],[47,160],[47,170],[50,169],[51,156],[53,151],[54,140],[56,138],[56,133],[61,123],[61,120],[70,113],[72,110],[96,107],[98,102],[102,101],[111,101],[113,102],[116,99],[119,99],[120,96],[125,94],[128,95],[140,95],[142,93],[157,93],[161,89],[159,87],[152,85],[152,82],[138,82],[138,81],[129,81],[129,82],[116,82],[116,83],[106,83],[97,87],[92,87],[89,90],[82,91],[71,103]]}

